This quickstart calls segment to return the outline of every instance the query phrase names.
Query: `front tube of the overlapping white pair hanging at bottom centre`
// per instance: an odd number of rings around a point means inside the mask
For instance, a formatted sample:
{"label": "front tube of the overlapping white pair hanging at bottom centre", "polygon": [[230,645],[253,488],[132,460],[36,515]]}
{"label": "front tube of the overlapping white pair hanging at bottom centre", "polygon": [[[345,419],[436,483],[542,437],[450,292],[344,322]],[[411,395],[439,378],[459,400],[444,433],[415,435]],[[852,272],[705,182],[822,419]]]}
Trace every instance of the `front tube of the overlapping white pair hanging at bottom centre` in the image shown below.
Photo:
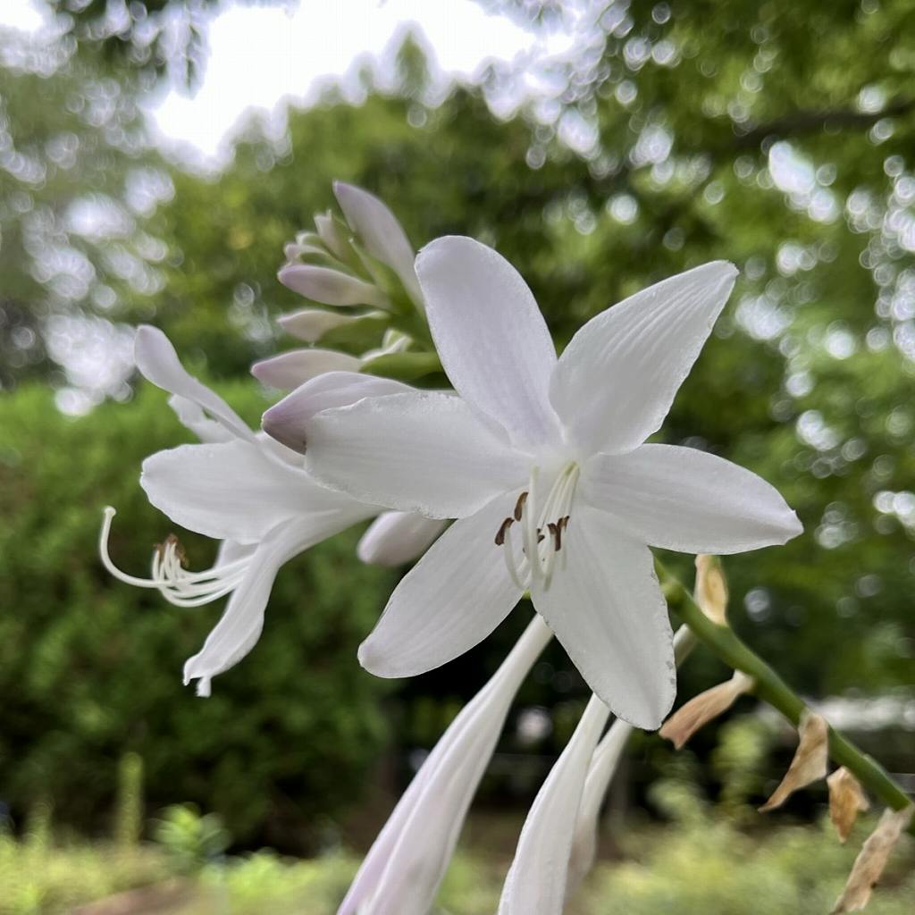
{"label": "front tube of the overlapping white pair hanging at bottom centre", "polygon": [[565,882],[588,764],[610,710],[596,695],[524,821],[499,915],[562,915]]}

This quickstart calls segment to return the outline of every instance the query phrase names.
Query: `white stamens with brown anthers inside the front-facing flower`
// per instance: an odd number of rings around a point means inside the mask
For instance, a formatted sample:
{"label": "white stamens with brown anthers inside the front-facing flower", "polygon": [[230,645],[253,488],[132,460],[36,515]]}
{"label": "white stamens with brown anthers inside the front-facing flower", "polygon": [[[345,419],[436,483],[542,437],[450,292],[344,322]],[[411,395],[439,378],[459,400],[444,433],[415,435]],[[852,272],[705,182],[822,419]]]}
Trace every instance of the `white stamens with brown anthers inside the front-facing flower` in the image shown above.
{"label": "white stamens with brown anthers inside the front-facing flower", "polygon": [[[531,468],[528,488],[515,503],[514,511],[501,522],[495,542],[505,554],[505,565],[511,580],[529,591],[539,582],[544,591],[550,587],[557,557],[562,553],[563,534],[569,525],[572,499],[580,470],[575,461],[568,461],[554,479],[553,486],[541,502],[538,490],[540,468]],[[522,561],[518,563],[512,543],[511,528],[518,524],[521,533]],[[565,554],[562,554],[565,566]]]}

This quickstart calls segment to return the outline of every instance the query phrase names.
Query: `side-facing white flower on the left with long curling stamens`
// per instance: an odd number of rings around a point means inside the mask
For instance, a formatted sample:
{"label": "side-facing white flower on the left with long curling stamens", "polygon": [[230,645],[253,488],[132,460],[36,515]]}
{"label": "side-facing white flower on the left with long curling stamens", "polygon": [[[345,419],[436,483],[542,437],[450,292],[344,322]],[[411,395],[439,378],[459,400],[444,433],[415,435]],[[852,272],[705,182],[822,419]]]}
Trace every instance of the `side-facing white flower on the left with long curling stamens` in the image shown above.
{"label": "side-facing white flower on the left with long curling stamens", "polygon": [[[122,581],[156,588],[178,607],[231,595],[203,648],[185,664],[185,682],[198,680],[199,694],[209,695],[211,678],[239,662],[260,637],[280,566],[377,509],[319,486],[296,452],[255,435],[229,404],[184,370],[161,331],[139,328],[135,352],[140,371],[175,395],[178,417],[204,440],[146,458],[140,483],[173,522],[223,544],[212,568],[190,572],[178,541],[169,538],[153,554],[150,578],[129,576],[108,554],[114,510],[107,509],[102,561]],[[379,385],[375,393],[383,390]]]}

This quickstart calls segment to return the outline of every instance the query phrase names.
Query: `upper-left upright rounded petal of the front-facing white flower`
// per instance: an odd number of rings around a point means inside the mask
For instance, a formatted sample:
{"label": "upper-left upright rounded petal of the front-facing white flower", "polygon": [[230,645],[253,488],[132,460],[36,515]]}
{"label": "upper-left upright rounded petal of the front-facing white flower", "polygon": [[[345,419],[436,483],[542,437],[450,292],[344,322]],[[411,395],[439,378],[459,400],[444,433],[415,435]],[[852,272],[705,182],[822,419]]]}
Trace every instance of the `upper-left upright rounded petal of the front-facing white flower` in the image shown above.
{"label": "upper-left upright rounded petal of the front-facing white flower", "polygon": [[416,258],[429,328],[455,390],[520,444],[553,441],[553,339],[521,274],[485,244],[448,236]]}

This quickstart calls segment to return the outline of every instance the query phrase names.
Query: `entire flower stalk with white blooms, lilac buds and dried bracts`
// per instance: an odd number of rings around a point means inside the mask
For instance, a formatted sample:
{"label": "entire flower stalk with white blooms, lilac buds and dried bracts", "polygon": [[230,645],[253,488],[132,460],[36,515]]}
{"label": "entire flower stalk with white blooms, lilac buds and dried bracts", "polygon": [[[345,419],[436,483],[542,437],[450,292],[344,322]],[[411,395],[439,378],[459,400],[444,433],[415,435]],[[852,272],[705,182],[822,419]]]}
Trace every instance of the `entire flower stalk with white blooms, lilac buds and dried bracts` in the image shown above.
{"label": "entire flower stalk with white blooms, lilac buds and dried bracts", "polygon": [[[592,694],[528,813],[501,915],[562,912],[594,861],[598,813],[633,728],[663,725],[679,748],[741,694],[800,728],[798,757],[771,806],[825,779],[831,757],[842,767],[829,785],[843,841],[867,805],[865,789],[887,807],[835,911],[867,901],[910,823],[910,802],[737,640],[713,558],[784,544],[801,523],[747,469],[649,441],[737,268],[716,261],[651,285],[587,321],[557,356],[531,290],[498,252],[448,236],[415,255],[380,199],[334,189],[342,218],[319,214],[314,231],[285,249],[279,279],[312,304],[280,325],[307,346],[254,364],[256,378],[287,392],[261,430],[188,374],[161,331],[136,333],[138,370],[199,438],[146,458],[141,484],[172,522],[220,542],[215,564],[188,570],[169,537],[148,576],[127,574],[109,554],[113,508],[101,556],[113,576],[178,607],[229,598],[185,664],[185,683],[196,681],[202,696],[218,674],[256,657],[279,568],[370,519],[358,558],[414,564],[361,645],[370,673],[409,677],[446,664],[530,598],[533,619],[416,772],[339,915],[432,910],[515,694],[554,636]],[[315,345],[339,328],[368,328],[377,345]],[[409,383],[444,382],[442,373],[450,387]],[[697,556],[695,596],[652,547]],[[734,677],[669,717],[677,664],[699,644]]]}

